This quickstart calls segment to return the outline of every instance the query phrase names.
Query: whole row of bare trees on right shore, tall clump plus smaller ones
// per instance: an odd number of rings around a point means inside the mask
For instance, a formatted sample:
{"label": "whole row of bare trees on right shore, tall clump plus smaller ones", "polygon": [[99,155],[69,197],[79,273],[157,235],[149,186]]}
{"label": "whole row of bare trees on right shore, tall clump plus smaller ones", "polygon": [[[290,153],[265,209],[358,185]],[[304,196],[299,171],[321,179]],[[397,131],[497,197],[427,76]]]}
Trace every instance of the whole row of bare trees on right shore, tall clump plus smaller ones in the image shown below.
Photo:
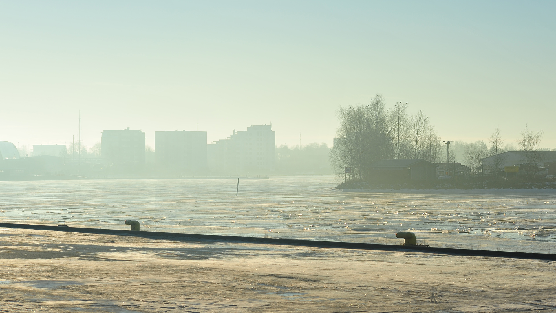
{"label": "whole row of bare trees on right shore, tall clump plus smaller ones", "polygon": [[[497,127],[486,141],[450,141],[450,153],[446,156],[446,144],[423,111],[408,113],[407,102],[386,108],[381,95],[376,95],[369,104],[340,106],[337,117],[340,126],[330,151],[330,162],[336,174],[344,174],[344,169],[349,167],[351,180],[368,181],[370,165],[388,159],[463,163],[473,173],[486,170],[498,178],[500,171],[504,170],[504,152],[523,151],[523,162],[537,169],[543,161],[539,152],[551,150],[540,147],[542,130],[533,131],[525,125],[515,144],[506,143]],[[484,159],[489,156],[492,156],[489,164],[484,164]]]}

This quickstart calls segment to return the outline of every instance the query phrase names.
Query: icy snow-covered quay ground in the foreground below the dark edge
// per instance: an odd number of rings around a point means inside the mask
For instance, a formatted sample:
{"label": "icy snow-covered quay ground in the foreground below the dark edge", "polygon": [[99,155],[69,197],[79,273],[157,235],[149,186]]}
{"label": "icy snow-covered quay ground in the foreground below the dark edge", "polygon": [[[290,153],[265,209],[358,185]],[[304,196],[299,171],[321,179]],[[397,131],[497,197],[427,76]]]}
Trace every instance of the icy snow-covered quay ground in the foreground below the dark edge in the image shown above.
{"label": "icy snow-covered quay ground in the foreground below the dark edge", "polygon": [[556,310],[554,261],[0,228],[2,312]]}

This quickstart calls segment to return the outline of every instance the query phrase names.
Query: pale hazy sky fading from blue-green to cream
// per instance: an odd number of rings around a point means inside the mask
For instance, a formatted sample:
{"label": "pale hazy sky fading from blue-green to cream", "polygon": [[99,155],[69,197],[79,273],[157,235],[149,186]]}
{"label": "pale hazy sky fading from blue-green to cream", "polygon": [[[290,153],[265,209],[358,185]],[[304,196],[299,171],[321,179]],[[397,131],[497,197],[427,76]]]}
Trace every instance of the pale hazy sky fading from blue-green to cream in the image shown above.
{"label": "pale hazy sky fading from blue-green to cream", "polygon": [[0,140],[105,129],[332,143],[336,110],[409,102],[443,140],[556,148],[554,1],[0,1]]}

